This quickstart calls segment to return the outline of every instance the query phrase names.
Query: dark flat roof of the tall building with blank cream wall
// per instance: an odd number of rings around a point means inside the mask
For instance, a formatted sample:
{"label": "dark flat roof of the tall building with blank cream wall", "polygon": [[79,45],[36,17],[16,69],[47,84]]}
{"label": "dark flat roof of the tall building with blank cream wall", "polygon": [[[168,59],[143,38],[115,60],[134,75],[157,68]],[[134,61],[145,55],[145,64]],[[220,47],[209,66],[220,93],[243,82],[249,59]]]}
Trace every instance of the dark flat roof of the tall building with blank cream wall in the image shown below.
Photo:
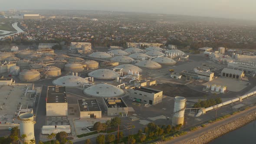
{"label": "dark flat roof of the tall building with blank cream wall", "polygon": [[48,86],[47,103],[66,103],[66,87],[65,86]]}

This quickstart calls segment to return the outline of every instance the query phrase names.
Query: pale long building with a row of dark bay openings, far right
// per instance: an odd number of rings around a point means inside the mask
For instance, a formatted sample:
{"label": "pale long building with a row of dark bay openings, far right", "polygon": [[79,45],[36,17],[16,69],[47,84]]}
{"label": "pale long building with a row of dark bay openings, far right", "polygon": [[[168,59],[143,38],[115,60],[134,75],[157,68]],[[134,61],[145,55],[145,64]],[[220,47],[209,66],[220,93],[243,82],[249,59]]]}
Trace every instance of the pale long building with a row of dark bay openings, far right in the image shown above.
{"label": "pale long building with a row of dark bay openings, far right", "polygon": [[242,79],[244,77],[244,73],[241,70],[224,68],[221,71],[221,76],[231,79]]}

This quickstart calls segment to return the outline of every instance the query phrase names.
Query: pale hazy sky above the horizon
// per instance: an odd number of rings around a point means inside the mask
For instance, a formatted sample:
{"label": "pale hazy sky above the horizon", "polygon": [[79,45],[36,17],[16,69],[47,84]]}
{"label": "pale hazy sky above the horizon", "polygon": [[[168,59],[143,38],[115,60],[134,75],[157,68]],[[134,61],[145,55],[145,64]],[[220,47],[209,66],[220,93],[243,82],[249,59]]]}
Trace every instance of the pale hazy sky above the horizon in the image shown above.
{"label": "pale hazy sky above the horizon", "polygon": [[113,10],[256,20],[256,0],[0,0],[0,10]]}

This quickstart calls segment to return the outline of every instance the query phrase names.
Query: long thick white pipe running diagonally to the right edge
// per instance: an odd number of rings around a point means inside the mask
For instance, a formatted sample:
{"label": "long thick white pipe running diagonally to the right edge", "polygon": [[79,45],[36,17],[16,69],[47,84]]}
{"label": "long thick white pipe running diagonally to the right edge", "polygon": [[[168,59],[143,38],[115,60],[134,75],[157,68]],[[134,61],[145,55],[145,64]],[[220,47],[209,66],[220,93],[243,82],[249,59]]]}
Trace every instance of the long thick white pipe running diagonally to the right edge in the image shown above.
{"label": "long thick white pipe running diagonally to the right edge", "polygon": [[254,94],[256,94],[256,91],[253,91],[253,92],[250,92],[248,94],[242,95],[238,98],[231,99],[229,101],[224,101],[223,103],[220,103],[218,105],[213,105],[213,106],[208,107],[208,108],[202,108],[198,111],[196,117],[199,117],[200,115],[205,114],[207,111],[213,110],[215,108],[220,108],[220,107],[223,107],[224,105],[228,105],[228,104],[236,102],[236,101],[242,101],[243,98],[248,98],[249,96],[252,96]]}

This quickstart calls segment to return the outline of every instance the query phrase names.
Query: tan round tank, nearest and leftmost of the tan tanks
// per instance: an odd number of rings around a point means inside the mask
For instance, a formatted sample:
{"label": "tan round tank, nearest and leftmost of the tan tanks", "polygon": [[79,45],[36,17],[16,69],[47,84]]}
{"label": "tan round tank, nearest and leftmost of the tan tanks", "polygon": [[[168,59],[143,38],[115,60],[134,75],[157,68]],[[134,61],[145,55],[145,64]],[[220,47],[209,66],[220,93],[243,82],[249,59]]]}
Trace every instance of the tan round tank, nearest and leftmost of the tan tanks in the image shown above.
{"label": "tan round tank, nearest and leftmost of the tan tanks", "polygon": [[35,82],[40,79],[40,73],[35,70],[25,69],[20,72],[20,80],[24,82]]}

